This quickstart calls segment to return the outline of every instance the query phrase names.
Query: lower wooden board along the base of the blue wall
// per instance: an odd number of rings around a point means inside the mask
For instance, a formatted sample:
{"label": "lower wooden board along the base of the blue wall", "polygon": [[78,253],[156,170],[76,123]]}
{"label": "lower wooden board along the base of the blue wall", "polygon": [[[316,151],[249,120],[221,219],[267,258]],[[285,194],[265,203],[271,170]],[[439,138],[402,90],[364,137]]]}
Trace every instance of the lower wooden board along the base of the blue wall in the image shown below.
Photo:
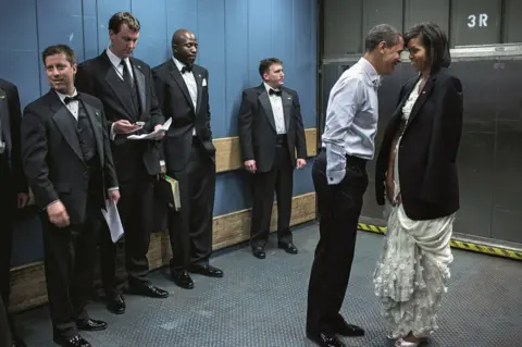
{"label": "lower wooden board along the base of the blue wall", "polygon": [[[297,225],[314,219],[315,193],[294,197],[290,224]],[[217,215],[214,218],[213,223],[214,250],[237,245],[249,239],[250,209]],[[277,208],[276,203],[274,203],[271,223],[272,232],[275,231],[276,225]],[[169,264],[171,255],[169,234],[166,232],[154,233],[150,240],[148,253],[150,269],[156,270]],[[11,269],[10,310],[18,312],[44,303],[47,303],[44,262],[40,261]]]}

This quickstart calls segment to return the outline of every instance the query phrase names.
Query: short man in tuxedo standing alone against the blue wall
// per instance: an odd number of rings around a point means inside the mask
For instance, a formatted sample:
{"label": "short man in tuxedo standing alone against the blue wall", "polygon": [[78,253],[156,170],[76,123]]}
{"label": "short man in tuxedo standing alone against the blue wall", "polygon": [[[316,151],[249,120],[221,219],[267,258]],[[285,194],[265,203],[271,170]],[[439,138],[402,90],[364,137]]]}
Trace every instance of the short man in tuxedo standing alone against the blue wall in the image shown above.
{"label": "short man in tuxedo standing alone against the blue wall", "polygon": [[[245,169],[252,176],[252,253],[264,259],[270,221],[277,197],[277,246],[298,252],[290,231],[294,169],[306,165],[307,144],[297,91],[283,86],[283,62],[264,59],[259,64],[261,85],[243,91],[239,142]],[[297,151],[297,157],[296,157]]]}

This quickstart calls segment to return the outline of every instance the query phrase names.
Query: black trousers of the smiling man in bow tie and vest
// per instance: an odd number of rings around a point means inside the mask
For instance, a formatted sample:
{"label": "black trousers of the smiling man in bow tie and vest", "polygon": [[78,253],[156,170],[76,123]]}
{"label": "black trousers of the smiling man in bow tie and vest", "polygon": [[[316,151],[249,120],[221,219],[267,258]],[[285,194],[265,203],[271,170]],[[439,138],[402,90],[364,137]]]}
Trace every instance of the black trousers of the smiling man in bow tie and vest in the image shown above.
{"label": "black trousers of the smiling man in bow tie and vest", "polygon": [[83,224],[54,226],[40,213],[44,234],[47,292],[55,335],[78,334],[76,320],[88,319],[85,307],[94,280],[97,230],[101,223],[99,203],[88,201]]}

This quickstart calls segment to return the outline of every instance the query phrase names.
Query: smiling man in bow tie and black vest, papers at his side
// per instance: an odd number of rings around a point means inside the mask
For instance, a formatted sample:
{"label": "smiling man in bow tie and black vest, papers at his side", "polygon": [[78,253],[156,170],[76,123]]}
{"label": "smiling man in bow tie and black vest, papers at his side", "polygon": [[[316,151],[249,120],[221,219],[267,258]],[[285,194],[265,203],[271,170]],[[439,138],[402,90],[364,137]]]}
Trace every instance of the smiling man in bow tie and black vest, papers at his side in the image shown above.
{"label": "smiling man in bow tie and black vest, papers at his side", "polygon": [[89,318],[85,306],[101,209],[105,200],[116,203],[120,191],[103,106],[74,87],[74,51],[51,46],[42,61],[51,90],[24,110],[23,168],[41,209],[53,339],[60,346],[85,347],[90,344],[79,330],[107,329]]}

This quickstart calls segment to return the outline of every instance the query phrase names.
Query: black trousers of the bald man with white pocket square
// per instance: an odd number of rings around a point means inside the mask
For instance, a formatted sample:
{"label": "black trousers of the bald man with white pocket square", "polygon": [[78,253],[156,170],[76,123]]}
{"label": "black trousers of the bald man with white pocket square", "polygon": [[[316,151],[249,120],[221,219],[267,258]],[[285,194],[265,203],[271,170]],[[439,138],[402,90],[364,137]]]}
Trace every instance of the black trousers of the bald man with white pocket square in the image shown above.
{"label": "black trousers of the bald man with white pocket square", "polygon": [[195,138],[185,170],[169,174],[178,181],[182,202],[179,211],[170,210],[169,213],[171,270],[208,264],[212,253],[215,163]]}

